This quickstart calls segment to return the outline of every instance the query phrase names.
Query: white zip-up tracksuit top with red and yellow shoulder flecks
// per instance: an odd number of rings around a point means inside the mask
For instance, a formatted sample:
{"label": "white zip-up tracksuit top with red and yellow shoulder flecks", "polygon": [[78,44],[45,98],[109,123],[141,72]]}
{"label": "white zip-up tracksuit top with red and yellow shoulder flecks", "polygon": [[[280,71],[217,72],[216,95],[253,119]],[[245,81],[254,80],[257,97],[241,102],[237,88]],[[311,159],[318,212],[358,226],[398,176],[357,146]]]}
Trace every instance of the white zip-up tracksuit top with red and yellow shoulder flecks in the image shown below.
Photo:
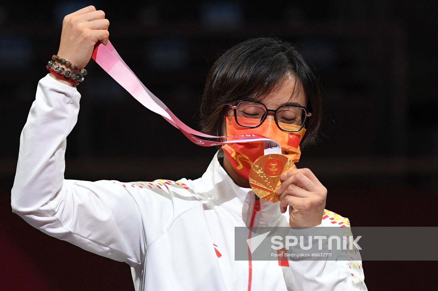
{"label": "white zip-up tracksuit top with red and yellow shoulder flecks", "polygon": [[[20,136],[12,211],[49,236],[131,266],[135,290],[367,290],[362,262],[234,260],[234,227],[289,226],[278,203],[256,202],[216,152],[202,177],[120,182],[64,179],[81,94],[48,73]],[[260,211],[254,211],[260,203]],[[350,225],[326,210],[320,226]],[[251,269],[251,270],[250,270]]]}

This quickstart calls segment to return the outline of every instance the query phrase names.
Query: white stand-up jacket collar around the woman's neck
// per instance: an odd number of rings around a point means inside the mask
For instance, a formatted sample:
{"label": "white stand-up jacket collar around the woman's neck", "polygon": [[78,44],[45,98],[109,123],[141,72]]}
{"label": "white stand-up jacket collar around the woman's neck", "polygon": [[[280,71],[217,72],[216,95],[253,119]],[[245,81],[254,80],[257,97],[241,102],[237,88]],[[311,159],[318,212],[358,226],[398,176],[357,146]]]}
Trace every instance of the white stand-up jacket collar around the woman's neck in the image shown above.
{"label": "white stand-up jacket collar around the woman's neck", "polygon": [[[202,196],[202,200],[205,200],[204,203],[211,203],[212,206],[220,205],[243,218],[251,217],[255,201],[254,191],[251,188],[239,187],[235,184],[219,163],[219,159],[223,159],[222,149],[215,153],[210,165],[202,175],[202,186],[205,190],[198,193]],[[260,199],[260,206],[260,221],[276,220],[283,215],[280,212],[279,202],[272,203]]]}

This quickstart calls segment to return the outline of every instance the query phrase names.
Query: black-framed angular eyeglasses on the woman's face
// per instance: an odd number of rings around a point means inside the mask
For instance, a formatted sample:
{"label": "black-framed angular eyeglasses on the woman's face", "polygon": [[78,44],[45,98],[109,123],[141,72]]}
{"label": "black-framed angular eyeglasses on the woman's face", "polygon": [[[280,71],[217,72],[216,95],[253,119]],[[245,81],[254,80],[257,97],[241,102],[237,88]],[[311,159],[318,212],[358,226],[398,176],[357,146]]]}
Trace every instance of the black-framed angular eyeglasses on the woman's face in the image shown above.
{"label": "black-framed angular eyeglasses on the woman's face", "polygon": [[238,125],[258,127],[265,121],[268,112],[274,112],[277,126],[286,132],[299,132],[312,114],[304,106],[282,105],[276,110],[266,108],[257,101],[239,100],[235,105],[228,105],[234,110],[234,118]]}

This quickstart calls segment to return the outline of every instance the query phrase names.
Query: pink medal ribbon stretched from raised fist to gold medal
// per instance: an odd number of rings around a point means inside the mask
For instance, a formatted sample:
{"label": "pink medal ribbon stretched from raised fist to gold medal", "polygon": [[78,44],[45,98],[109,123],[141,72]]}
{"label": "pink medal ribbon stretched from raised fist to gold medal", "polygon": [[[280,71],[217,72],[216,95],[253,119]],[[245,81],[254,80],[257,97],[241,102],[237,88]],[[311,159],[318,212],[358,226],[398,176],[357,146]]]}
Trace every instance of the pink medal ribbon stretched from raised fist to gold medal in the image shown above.
{"label": "pink medal ribbon stretched from raised fist to gold medal", "polygon": [[[120,55],[117,53],[114,46],[108,40],[107,45],[103,45],[99,42],[99,45],[95,45],[92,59],[95,60],[102,69],[109,74],[120,86],[124,87],[129,94],[132,95],[135,99],[138,100],[143,106],[148,108],[149,110],[160,114],[164,119],[166,119],[171,125],[178,128],[191,142],[194,142],[197,145],[201,146],[213,146],[220,145],[226,143],[236,143],[236,142],[254,142],[263,140],[265,143],[265,155],[268,154],[281,154],[280,145],[273,141],[272,139],[268,139],[263,135],[257,134],[247,134],[247,135],[225,135],[225,136],[215,136],[215,135],[207,135],[202,132],[198,132],[187,125],[184,122],[180,121],[175,114],[170,111],[170,109],[162,103],[148,88],[141,83],[137,76],[135,76],[134,72],[127,66],[127,64],[123,61]],[[227,140],[225,142],[212,142],[206,139],[200,139],[195,137],[194,135],[208,137],[208,138],[224,138],[224,137],[244,137],[243,139],[233,139]],[[275,147],[271,147],[273,143],[276,145]]]}

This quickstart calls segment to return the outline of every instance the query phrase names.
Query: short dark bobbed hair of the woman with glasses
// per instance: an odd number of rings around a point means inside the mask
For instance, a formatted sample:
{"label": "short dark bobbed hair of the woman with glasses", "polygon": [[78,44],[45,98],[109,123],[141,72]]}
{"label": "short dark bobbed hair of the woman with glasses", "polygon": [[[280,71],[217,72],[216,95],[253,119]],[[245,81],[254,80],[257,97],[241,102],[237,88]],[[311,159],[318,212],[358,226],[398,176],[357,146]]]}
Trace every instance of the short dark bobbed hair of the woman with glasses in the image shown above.
{"label": "short dark bobbed hair of the woman with glasses", "polygon": [[[321,125],[319,80],[295,45],[274,37],[251,38],[234,45],[219,57],[208,72],[201,104],[201,131],[221,135],[223,110],[237,100],[260,100],[275,92],[293,74],[306,96],[312,116],[306,120],[306,134],[300,148],[317,143]],[[218,146],[218,148],[220,145]]]}

